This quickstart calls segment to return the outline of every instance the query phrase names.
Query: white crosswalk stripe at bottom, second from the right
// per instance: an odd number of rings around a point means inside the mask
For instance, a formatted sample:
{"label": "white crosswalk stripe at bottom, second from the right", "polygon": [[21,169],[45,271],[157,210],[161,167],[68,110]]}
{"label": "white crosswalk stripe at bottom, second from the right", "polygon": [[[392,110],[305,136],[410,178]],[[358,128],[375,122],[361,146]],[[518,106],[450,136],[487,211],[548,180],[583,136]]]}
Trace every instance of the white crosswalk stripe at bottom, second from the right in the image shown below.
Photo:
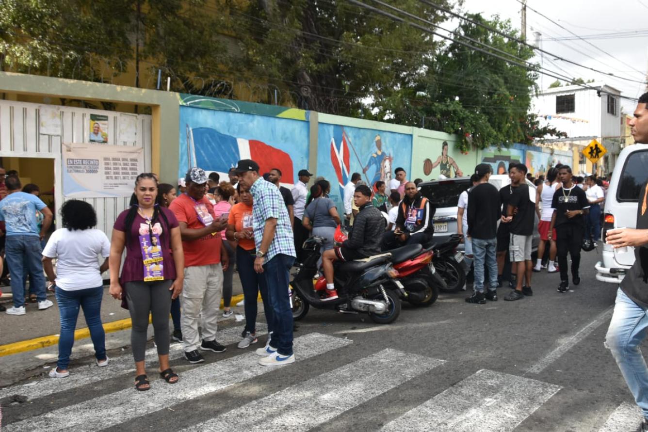
{"label": "white crosswalk stripe at bottom, second from the right", "polygon": [[482,369],[389,422],[381,431],[512,431],[560,389]]}

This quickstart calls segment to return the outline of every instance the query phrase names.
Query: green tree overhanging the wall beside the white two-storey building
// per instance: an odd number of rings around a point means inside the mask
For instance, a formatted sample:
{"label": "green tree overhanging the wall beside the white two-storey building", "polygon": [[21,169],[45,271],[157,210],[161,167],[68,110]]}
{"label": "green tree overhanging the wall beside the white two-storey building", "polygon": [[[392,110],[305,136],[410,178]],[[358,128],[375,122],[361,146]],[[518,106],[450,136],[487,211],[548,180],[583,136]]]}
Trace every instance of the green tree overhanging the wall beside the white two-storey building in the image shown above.
{"label": "green tree overhanging the wall beside the white two-storey building", "polygon": [[[509,21],[497,17],[487,20],[479,14],[469,17],[516,36]],[[534,138],[557,133],[540,128],[535,115],[529,114],[531,96],[537,91],[535,71],[457,41],[473,46],[476,43],[464,36],[480,41],[506,54],[479,47],[517,63],[533,58],[529,47],[467,21],[459,26],[457,34],[435,58],[429,59],[421,80],[401,93],[401,109],[393,111],[395,122],[411,123],[424,118],[426,128],[459,134],[461,150],[514,142],[530,144]]]}

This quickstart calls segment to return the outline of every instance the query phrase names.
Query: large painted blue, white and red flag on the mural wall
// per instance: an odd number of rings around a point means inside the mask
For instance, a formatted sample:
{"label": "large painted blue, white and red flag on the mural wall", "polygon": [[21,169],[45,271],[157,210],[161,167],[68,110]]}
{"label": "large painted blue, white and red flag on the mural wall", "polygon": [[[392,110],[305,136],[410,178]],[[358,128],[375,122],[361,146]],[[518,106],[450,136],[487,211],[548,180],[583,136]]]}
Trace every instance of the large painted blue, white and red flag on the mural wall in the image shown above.
{"label": "large painted blue, white and red flag on the mural wall", "polygon": [[[227,172],[240,159],[252,159],[259,164],[259,174],[272,168],[281,170],[281,185],[294,185],[294,168],[288,153],[255,139],[237,138],[213,128],[190,128],[187,125],[189,165],[215,171],[227,179]],[[225,177],[223,177],[225,176]]]}

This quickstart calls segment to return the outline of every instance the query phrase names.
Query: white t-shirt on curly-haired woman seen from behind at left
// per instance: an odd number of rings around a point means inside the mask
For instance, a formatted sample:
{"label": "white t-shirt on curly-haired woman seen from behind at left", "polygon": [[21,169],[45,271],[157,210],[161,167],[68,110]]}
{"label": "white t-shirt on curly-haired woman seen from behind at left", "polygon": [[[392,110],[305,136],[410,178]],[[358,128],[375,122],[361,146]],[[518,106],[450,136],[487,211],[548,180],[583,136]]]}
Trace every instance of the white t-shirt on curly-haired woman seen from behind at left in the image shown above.
{"label": "white t-shirt on curly-haired woman seen from behind at left", "polygon": [[43,256],[56,258],[56,286],[65,291],[103,285],[99,255],[110,255],[110,242],[103,231],[95,228],[57,229],[43,249]]}

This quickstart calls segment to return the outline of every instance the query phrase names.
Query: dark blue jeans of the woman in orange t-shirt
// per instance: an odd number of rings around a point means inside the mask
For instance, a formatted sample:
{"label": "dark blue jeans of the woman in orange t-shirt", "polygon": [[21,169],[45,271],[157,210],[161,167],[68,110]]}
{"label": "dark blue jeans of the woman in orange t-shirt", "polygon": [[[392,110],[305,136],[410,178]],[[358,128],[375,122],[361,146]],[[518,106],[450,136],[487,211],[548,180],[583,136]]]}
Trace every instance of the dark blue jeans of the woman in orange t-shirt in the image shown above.
{"label": "dark blue jeans of the woman in orange t-shirt", "polygon": [[261,291],[263,309],[268,323],[268,332],[272,332],[272,307],[268,299],[268,284],[264,273],[254,271],[254,258],[250,251],[237,246],[238,276],[243,286],[243,300],[245,309],[245,331],[257,332],[257,298]]}

